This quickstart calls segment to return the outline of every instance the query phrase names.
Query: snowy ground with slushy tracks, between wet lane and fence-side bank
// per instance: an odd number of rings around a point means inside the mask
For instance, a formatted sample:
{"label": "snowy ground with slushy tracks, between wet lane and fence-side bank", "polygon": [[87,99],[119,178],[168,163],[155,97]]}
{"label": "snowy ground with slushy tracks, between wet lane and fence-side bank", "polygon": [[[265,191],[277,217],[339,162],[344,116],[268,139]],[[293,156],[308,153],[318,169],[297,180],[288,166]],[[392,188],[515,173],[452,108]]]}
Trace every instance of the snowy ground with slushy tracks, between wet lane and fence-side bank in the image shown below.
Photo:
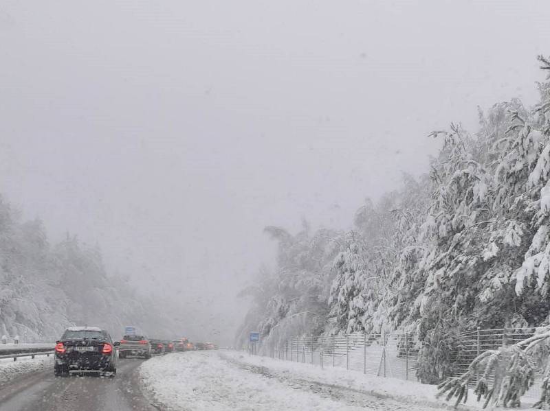
{"label": "snowy ground with slushy tracks, between wet lane and fence-side bank", "polygon": [[[166,410],[375,410],[445,409],[428,401],[393,399],[349,386],[308,378],[292,369],[270,368],[241,353],[202,351],[155,357],[140,368],[146,395]],[[283,363],[283,362],[281,362]],[[292,365],[292,364],[291,364]],[[330,371],[326,371],[330,375]],[[414,393],[411,393],[411,398]]]}

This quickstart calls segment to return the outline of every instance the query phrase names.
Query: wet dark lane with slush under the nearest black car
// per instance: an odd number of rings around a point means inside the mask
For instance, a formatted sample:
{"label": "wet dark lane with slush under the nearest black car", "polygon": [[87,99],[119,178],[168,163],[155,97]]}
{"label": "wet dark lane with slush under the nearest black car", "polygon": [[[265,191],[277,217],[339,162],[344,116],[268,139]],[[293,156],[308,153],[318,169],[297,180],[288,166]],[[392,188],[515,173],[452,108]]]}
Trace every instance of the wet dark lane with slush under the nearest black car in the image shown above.
{"label": "wet dark lane with slush under the nearest black car", "polygon": [[0,411],[158,411],[137,381],[143,360],[119,360],[114,378],[54,377],[54,370],[24,375],[0,387]]}

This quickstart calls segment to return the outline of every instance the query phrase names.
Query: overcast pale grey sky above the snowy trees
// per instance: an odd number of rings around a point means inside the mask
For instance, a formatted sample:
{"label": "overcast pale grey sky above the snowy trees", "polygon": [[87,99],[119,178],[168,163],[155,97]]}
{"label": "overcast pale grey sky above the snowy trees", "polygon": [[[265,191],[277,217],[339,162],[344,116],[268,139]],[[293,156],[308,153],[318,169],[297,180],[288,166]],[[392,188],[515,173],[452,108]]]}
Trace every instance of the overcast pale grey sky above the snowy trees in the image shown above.
{"label": "overcast pale grey sky above the snowy trees", "polygon": [[549,21],[548,1],[3,0],[0,191],[232,335],[265,225],[345,228],[426,169],[431,130],[533,104]]}

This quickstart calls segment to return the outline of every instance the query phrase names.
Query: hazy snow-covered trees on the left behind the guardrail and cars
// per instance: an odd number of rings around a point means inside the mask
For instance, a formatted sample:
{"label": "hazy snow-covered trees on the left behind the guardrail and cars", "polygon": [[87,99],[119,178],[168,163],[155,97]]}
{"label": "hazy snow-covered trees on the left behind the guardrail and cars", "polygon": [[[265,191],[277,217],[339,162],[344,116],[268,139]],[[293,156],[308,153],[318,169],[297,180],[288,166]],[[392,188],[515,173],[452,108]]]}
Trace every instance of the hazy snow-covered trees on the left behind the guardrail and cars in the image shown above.
{"label": "hazy snow-covered trees on the left behind the guardrail and cars", "polygon": [[0,197],[0,335],[58,338],[70,325],[98,325],[119,336],[124,325],[170,334],[162,307],[109,276],[98,247],[76,236],[50,244],[41,220],[24,222]]}

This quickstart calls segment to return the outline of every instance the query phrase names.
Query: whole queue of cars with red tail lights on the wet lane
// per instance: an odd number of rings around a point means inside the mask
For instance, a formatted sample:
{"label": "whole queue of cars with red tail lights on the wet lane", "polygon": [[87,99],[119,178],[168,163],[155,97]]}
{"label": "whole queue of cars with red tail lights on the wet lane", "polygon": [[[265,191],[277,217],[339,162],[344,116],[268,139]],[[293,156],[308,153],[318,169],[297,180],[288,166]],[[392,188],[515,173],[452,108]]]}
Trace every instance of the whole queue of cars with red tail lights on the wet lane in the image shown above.
{"label": "whole queue of cars with red tail lights on the wet lane", "polygon": [[54,375],[99,373],[116,375],[118,358],[164,355],[175,351],[217,349],[211,342],[193,344],[188,338],[157,340],[140,334],[129,334],[113,341],[109,333],[98,327],[69,327],[56,342]]}

